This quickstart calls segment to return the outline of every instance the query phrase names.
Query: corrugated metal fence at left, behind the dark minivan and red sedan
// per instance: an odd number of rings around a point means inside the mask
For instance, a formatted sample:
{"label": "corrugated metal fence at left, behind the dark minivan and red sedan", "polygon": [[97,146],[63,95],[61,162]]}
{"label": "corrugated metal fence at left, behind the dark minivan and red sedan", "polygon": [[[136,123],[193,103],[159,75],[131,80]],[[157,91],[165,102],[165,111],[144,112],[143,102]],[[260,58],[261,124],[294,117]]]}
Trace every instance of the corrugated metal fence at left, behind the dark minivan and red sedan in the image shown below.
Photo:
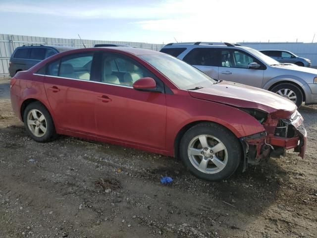
{"label": "corrugated metal fence at left, behind the dark minivan and red sedan", "polygon": [[[159,51],[164,45],[148,44],[142,42],[123,42],[123,41],[95,41],[83,40],[86,47],[93,47],[95,44],[124,44],[132,47],[144,48]],[[47,38],[36,36],[20,36],[0,34],[0,76],[8,76],[9,60],[15,48],[26,44],[42,44],[51,46],[68,46],[83,48],[82,41],[79,39]]]}

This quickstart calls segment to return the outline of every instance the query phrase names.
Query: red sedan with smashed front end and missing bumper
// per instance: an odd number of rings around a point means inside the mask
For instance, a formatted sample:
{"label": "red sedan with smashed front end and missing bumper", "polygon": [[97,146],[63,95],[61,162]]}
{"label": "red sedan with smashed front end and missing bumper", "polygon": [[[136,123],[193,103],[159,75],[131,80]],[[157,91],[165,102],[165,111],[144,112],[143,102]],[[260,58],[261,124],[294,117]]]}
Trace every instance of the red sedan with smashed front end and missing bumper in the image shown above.
{"label": "red sedan with smashed front end and missing bumper", "polygon": [[38,142],[65,134],[180,157],[208,180],[285,149],[303,157],[307,144],[290,100],[143,49],[57,54],[11,79],[11,101]]}

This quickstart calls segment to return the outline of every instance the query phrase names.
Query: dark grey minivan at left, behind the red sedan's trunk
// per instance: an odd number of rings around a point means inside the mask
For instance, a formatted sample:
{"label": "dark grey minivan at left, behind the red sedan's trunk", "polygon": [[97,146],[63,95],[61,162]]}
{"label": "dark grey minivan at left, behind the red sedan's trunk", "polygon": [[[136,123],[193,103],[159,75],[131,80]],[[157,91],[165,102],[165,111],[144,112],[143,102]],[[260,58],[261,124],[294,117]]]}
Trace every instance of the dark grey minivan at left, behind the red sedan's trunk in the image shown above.
{"label": "dark grey minivan at left, behind the red sedan's trunk", "polygon": [[50,56],[73,49],[75,48],[44,45],[23,45],[21,47],[17,47],[9,62],[10,76],[13,77],[16,72],[27,70],[41,60],[49,58]]}

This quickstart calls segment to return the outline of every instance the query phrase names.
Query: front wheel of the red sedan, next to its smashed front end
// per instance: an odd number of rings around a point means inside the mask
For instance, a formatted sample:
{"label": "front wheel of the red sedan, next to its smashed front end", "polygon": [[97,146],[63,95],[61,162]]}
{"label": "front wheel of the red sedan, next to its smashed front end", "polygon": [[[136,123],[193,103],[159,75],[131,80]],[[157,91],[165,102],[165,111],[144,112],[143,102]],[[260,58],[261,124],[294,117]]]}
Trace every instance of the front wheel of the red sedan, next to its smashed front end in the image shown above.
{"label": "front wheel of the red sedan, next to its smashed front end", "polygon": [[241,145],[228,129],[215,123],[190,128],[180,142],[180,157],[195,176],[210,181],[229,178],[238,168]]}

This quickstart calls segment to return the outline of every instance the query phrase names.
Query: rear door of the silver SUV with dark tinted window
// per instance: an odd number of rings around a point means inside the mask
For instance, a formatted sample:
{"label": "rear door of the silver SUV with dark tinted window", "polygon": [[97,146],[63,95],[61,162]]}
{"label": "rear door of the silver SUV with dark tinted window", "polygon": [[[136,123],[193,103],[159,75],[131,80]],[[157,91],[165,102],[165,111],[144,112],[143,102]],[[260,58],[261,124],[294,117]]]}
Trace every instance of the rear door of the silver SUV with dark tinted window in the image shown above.
{"label": "rear door of the silver SUV with dark tinted window", "polygon": [[203,71],[211,78],[218,79],[218,65],[220,51],[216,48],[194,48],[185,57],[184,61]]}

